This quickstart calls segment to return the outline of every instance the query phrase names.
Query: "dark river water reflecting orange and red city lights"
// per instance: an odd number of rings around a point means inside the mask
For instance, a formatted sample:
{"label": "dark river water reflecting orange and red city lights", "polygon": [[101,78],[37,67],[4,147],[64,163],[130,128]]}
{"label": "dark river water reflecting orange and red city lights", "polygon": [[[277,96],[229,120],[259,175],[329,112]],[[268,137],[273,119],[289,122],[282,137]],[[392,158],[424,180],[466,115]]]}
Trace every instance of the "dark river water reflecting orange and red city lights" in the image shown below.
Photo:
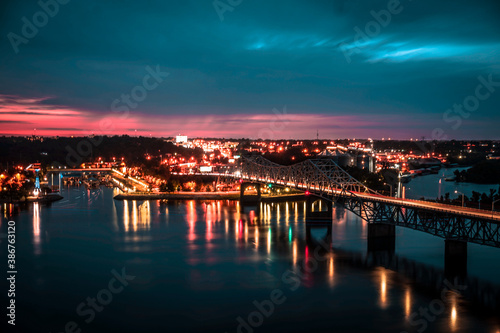
{"label": "dark river water reflecting orange and red city lights", "polygon": [[370,254],[366,223],[339,207],[330,242],[327,228],[307,237],[303,202],[258,218],[234,201],[117,193],[63,187],[49,206],[4,209],[18,332],[500,332],[500,249],[469,244],[467,279],[448,281],[442,239],[397,228],[394,255]]}

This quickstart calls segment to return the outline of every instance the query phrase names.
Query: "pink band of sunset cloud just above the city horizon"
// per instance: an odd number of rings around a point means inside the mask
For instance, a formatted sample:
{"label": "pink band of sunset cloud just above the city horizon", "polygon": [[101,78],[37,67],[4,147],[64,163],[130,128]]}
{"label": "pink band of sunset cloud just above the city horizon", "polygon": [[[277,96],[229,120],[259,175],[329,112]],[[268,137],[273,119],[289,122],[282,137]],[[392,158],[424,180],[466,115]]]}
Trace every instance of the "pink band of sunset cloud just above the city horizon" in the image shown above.
{"label": "pink band of sunset cloud just above the city horizon", "polygon": [[[142,135],[190,137],[314,139],[321,138],[409,138],[409,116],[328,115],[270,111],[267,114],[173,114],[152,115],[130,111],[97,114],[64,106],[51,105],[45,98],[16,98],[0,95],[0,134],[44,136]],[[423,126],[418,119],[411,120]]]}

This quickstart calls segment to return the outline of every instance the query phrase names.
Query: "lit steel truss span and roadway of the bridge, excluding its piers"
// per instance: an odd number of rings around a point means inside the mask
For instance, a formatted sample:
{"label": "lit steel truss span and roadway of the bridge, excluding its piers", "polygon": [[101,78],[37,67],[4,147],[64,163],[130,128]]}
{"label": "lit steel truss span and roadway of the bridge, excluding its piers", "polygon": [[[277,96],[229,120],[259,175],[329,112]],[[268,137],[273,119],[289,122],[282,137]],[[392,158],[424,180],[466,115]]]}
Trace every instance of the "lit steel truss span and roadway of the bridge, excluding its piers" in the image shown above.
{"label": "lit steel truss span and roadway of the bridge, excluding its piers", "polygon": [[500,214],[427,201],[381,195],[339,167],[332,159],[310,159],[291,166],[262,156],[242,157],[243,180],[294,187],[336,202],[368,223],[420,230],[449,240],[500,247]]}

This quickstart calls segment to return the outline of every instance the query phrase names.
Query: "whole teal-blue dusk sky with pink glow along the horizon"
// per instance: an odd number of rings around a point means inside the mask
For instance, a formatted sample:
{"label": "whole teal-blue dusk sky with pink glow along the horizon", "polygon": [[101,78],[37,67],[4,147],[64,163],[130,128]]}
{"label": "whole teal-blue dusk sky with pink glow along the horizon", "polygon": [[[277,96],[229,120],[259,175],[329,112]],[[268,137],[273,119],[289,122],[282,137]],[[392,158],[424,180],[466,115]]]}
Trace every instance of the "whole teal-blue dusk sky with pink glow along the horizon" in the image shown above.
{"label": "whole teal-blue dusk sky with pink glow along the horizon", "polygon": [[500,138],[498,1],[216,5],[3,1],[0,133]]}

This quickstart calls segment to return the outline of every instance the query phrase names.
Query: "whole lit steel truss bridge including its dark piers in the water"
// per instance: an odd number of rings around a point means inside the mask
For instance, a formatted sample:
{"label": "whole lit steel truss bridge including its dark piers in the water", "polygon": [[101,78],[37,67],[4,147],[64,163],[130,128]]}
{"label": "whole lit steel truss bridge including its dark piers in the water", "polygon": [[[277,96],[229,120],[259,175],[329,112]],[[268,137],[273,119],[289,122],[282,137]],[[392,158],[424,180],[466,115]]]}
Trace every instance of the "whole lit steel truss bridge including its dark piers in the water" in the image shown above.
{"label": "whole lit steel truss bridge including its dark piers in the water", "polygon": [[[394,250],[395,227],[423,231],[445,239],[445,266],[464,273],[467,243],[500,247],[500,214],[428,201],[381,195],[354,179],[332,159],[310,159],[291,166],[262,156],[242,157],[240,200],[245,189],[261,184],[303,190],[308,195],[306,223],[332,222],[332,203],[339,204],[368,223],[369,250]],[[255,199],[255,198],[254,198]],[[315,201],[326,201],[326,211],[315,211]],[[445,267],[446,269],[446,267]]]}

